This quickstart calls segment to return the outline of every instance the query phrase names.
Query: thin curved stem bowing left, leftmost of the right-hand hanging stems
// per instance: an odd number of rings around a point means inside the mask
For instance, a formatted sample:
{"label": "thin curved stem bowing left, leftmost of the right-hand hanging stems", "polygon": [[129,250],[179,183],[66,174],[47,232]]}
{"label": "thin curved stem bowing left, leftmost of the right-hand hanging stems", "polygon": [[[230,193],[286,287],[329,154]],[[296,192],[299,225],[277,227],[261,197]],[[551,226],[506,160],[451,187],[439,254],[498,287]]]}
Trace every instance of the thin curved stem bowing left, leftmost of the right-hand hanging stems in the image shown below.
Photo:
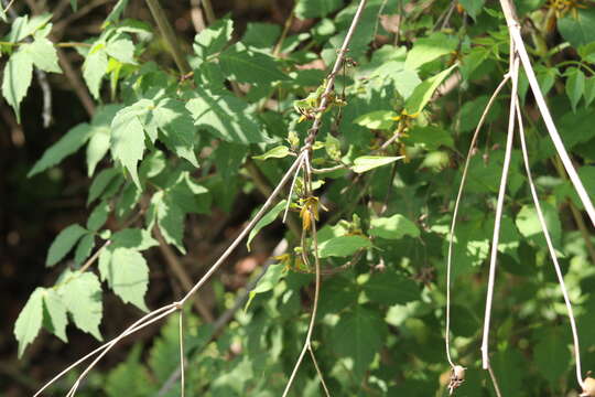
{"label": "thin curved stem bowing left, leftmost of the right-hand hanging stems", "polygon": [[465,165],[463,167],[463,175],[461,176],[461,184],[458,185],[458,192],[456,194],[455,206],[453,211],[453,221],[451,223],[451,230],[448,234],[448,254],[446,257],[446,330],[444,332],[444,342],[446,345],[446,358],[448,360],[448,364],[451,364],[451,367],[453,367],[453,369],[455,367],[455,364],[451,356],[451,283],[452,283],[451,278],[452,278],[452,268],[453,268],[454,232],[456,228],[458,207],[463,198],[463,190],[465,189],[465,183],[467,182],[467,173],[469,170],[470,158],[473,154],[473,149],[475,148],[475,144],[477,143],[479,131],[482,130],[482,127],[484,126],[487,115],[489,110],[491,109],[491,106],[494,105],[496,98],[498,97],[498,94],[500,94],[504,86],[509,79],[510,79],[510,75],[506,74],[502,81],[500,82],[500,84],[498,85],[498,87],[496,87],[496,89],[494,90],[494,94],[491,94],[491,97],[489,98],[489,101],[487,103],[484,109],[484,112],[482,114],[482,118],[479,119],[479,122],[477,124],[477,127],[475,128],[475,132],[469,143],[469,150],[467,151],[467,158],[465,159]]}

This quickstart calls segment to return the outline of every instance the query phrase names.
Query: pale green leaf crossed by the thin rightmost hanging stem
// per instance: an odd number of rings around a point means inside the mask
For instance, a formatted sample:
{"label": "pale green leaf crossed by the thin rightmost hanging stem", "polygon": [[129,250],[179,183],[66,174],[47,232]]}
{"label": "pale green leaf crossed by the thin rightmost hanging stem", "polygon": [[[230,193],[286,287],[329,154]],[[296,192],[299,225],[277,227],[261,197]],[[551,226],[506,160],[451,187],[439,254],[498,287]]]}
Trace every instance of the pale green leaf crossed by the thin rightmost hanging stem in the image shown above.
{"label": "pale green leaf crossed by the thin rightmost hanging stem", "polygon": [[[554,206],[547,202],[540,202],[543,217],[545,218],[545,225],[550,232],[552,243],[554,247],[560,247],[560,239],[562,237],[562,226],[560,224],[559,212]],[[533,240],[541,247],[547,247],[545,238],[541,229],[537,210],[533,205],[523,205],[517,215],[517,227],[521,235],[526,238]]]}

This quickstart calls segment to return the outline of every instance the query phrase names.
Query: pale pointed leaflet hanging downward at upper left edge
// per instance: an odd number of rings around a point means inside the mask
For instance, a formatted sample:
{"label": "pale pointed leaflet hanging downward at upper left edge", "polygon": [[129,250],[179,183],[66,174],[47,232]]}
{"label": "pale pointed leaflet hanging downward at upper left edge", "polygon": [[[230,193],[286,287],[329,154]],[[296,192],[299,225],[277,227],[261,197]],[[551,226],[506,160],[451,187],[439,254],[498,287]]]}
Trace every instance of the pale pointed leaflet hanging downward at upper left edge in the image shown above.
{"label": "pale pointed leaflet hanging downward at upper left edge", "polygon": [[32,77],[33,61],[30,54],[22,50],[17,51],[4,66],[2,95],[14,109],[19,124],[21,124],[21,101],[26,95]]}

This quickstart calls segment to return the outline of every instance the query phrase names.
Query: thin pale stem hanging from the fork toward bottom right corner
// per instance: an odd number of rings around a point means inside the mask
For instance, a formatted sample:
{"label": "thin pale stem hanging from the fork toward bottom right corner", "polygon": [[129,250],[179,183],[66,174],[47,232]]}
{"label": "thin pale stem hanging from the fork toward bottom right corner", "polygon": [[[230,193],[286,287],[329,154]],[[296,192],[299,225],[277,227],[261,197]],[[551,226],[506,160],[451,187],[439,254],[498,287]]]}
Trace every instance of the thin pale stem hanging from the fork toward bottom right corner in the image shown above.
{"label": "thin pale stem hanging from the fork toward bottom right corner", "polygon": [[583,372],[581,369],[581,347],[578,345],[578,331],[576,330],[576,321],[574,319],[574,313],[572,310],[572,303],[569,297],[569,291],[566,289],[566,285],[564,283],[564,276],[562,276],[562,270],[560,269],[560,264],[558,261],[558,256],[555,254],[552,238],[550,236],[550,232],[548,230],[548,225],[545,224],[545,217],[543,216],[543,211],[541,210],[541,204],[539,203],[539,196],[537,193],[536,184],[533,183],[533,176],[531,175],[531,165],[529,163],[529,154],[527,152],[527,144],[524,141],[524,128],[522,125],[522,117],[518,107],[519,98],[517,95],[515,95],[515,98],[517,100],[517,119],[519,124],[519,137],[520,137],[520,144],[521,144],[521,151],[522,151],[522,160],[524,162],[524,171],[527,172],[527,181],[529,182],[529,187],[531,190],[533,204],[536,205],[536,211],[538,214],[541,230],[543,232],[543,237],[545,237],[545,244],[548,245],[548,250],[550,253],[550,257],[552,258],[552,264],[555,269],[555,275],[558,276],[558,282],[560,283],[560,289],[562,290],[562,294],[564,296],[564,303],[566,304],[566,310],[569,312],[569,320],[570,320],[571,330],[572,330],[572,340],[574,343],[574,357],[576,361],[576,365],[575,365],[576,380],[578,382],[578,385],[581,385],[581,387],[584,389],[585,385],[582,378]]}

